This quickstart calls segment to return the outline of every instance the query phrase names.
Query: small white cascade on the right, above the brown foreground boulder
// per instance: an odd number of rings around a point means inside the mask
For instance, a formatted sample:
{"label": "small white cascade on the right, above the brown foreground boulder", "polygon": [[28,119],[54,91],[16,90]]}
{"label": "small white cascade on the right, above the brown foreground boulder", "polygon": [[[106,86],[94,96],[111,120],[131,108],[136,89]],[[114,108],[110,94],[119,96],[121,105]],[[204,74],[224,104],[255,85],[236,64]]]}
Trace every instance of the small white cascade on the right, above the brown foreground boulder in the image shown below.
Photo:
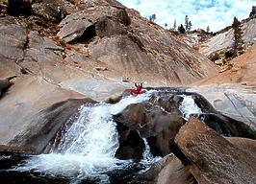
{"label": "small white cascade on the right, above the brown foreground boulder", "polygon": [[184,98],[182,104],[179,106],[179,110],[183,114],[185,120],[189,120],[192,114],[201,114],[201,109],[194,103],[192,96],[182,95]]}

